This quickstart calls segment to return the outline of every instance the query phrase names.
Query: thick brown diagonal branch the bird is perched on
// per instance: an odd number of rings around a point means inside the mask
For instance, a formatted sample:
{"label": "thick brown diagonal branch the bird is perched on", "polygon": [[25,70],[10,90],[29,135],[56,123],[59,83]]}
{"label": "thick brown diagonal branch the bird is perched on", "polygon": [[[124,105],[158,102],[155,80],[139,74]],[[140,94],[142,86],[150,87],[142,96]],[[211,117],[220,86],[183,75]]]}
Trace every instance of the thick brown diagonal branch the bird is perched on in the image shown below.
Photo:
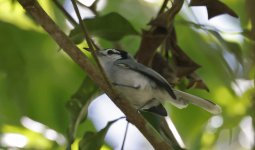
{"label": "thick brown diagonal branch the bird is perched on", "polygon": [[87,75],[113,100],[113,102],[123,111],[128,120],[134,124],[140,132],[147,138],[155,149],[173,149],[159,133],[149,124],[137,111],[130,106],[127,101],[110,90],[101,74],[87,57],[76,47],[76,45],[64,34],[55,22],[46,14],[36,0],[18,0],[23,8],[32,15],[45,31],[55,40],[55,42],[87,73]]}

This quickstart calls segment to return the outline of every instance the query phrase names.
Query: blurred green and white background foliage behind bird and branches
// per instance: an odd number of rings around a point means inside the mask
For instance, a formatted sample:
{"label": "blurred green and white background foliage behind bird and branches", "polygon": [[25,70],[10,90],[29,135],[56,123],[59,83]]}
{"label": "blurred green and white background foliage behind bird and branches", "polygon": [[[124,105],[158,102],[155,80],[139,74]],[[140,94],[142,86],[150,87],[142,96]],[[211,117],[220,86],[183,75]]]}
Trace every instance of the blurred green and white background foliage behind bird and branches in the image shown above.
{"label": "blurred green and white background foliage behind bird and branches", "polygon": [[[76,18],[70,1],[59,2]],[[131,54],[163,3],[99,0],[95,9],[88,8],[93,2],[80,0],[83,17],[115,12],[132,26],[132,33],[117,39],[102,36],[92,27],[93,39],[100,47],[121,46]],[[196,73],[210,92],[184,88],[185,80],[177,88],[211,99],[223,111],[212,116],[195,106],[180,110],[165,105],[188,149],[254,149],[255,4],[252,0],[221,2],[239,17],[222,14],[208,20],[206,7],[189,7],[190,1],[185,1],[174,22],[179,45],[201,65]],[[73,26],[55,3],[39,3],[69,34]],[[117,23],[107,25],[114,28]],[[99,90],[93,82],[15,0],[0,0],[0,46],[0,149],[65,149],[70,139],[74,140],[71,148],[78,149],[84,133],[96,133],[123,116],[107,96],[97,97]],[[125,127],[125,119],[110,126],[101,149],[120,149]],[[152,149],[135,127],[129,127],[127,150]]]}

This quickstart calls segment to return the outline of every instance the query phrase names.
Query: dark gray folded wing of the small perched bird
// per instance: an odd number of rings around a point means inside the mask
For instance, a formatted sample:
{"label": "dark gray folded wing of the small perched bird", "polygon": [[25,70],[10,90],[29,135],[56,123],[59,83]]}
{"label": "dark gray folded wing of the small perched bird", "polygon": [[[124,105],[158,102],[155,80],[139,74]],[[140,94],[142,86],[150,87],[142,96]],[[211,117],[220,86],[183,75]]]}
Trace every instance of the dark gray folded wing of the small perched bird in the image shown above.
{"label": "dark gray folded wing of the small perched bird", "polygon": [[168,84],[166,79],[164,79],[160,74],[158,74],[154,70],[140,63],[137,63],[132,59],[120,59],[115,61],[114,64],[120,67],[130,68],[134,71],[140,72],[144,76],[152,79],[159,87],[163,87],[173,99],[176,99],[176,95],[174,94],[172,87]]}

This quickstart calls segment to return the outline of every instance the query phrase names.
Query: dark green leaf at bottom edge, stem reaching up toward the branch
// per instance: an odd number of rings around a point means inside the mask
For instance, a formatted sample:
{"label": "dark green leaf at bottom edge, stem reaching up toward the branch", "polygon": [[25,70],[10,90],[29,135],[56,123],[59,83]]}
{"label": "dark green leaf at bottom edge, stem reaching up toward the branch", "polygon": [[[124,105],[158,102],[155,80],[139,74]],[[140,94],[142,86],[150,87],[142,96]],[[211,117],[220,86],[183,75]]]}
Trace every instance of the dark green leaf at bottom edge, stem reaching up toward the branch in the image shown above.
{"label": "dark green leaf at bottom edge, stem reaching up toward the branch", "polygon": [[80,150],[99,150],[101,146],[104,144],[104,138],[108,129],[111,127],[113,123],[115,123],[119,119],[122,119],[122,118],[118,118],[108,122],[107,125],[97,133],[86,132],[83,138],[81,139],[81,141],[79,142],[79,149]]}

